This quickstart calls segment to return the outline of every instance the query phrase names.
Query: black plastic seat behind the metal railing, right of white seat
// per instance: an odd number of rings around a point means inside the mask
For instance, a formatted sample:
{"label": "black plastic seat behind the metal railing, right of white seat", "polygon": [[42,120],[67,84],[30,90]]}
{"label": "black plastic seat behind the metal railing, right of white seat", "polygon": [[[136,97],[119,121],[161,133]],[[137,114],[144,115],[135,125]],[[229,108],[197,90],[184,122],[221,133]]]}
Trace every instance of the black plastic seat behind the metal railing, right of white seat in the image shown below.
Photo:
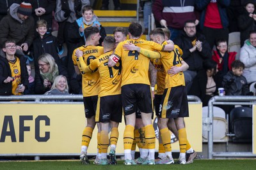
{"label": "black plastic seat behind the metal railing, right of white seat", "polygon": [[252,108],[238,107],[230,111],[232,141],[252,143]]}

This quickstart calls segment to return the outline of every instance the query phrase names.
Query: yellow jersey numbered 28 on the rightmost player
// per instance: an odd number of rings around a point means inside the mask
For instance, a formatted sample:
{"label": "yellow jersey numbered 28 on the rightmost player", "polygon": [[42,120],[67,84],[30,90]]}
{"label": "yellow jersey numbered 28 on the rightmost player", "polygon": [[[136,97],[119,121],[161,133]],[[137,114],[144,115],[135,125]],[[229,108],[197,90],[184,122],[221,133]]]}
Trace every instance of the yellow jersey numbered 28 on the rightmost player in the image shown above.
{"label": "yellow jersey numbered 28 on the rightmost player", "polygon": [[[182,54],[183,54],[182,50],[177,45],[174,45],[174,49],[172,52],[161,52],[161,62],[164,66],[164,71],[166,73],[168,69],[170,69],[172,66],[177,66],[177,67],[182,66],[181,64],[181,61],[183,60],[181,58]],[[165,83],[165,89],[170,87],[177,87],[179,85],[185,86],[184,73],[179,72],[173,76],[166,74],[164,83]]]}

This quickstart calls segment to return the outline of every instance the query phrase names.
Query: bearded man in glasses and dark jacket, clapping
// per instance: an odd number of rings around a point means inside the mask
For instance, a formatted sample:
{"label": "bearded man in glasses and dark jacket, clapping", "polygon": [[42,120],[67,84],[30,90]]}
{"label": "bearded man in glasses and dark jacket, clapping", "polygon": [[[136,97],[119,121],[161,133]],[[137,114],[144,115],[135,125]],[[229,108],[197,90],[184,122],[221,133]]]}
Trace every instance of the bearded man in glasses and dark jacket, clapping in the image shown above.
{"label": "bearded man in glasses and dark jacket, clapping", "polygon": [[184,71],[186,89],[189,92],[197,72],[203,69],[203,61],[211,59],[211,48],[205,36],[196,32],[195,20],[185,22],[184,31],[173,43],[183,50],[182,59],[189,65],[189,69]]}

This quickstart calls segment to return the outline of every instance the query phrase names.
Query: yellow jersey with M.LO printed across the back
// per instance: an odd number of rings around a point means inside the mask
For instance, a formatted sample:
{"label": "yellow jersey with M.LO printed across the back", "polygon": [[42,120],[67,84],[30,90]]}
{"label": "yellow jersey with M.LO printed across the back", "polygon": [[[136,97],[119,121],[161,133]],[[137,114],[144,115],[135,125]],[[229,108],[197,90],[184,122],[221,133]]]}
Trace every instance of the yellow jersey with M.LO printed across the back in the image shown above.
{"label": "yellow jersey with M.LO printed across the back", "polygon": [[100,55],[89,65],[91,70],[99,69],[100,91],[99,97],[121,94],[122,64],[119,60],[115,66],[108,67],[108,59],[113,51]]}

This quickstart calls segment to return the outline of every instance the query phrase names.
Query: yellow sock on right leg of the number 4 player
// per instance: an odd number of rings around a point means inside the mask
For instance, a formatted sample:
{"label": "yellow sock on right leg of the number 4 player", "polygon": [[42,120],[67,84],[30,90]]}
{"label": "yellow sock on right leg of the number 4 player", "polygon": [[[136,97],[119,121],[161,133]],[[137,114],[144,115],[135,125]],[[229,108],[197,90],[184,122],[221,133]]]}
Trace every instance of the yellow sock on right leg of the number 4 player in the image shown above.
{"label": "yellow sock on right leg of the number 4 player", "polygon": [[153,125],[145,126],[145,140],[148,145],[148,149],[155,149],[156,147],[156,134]]}

